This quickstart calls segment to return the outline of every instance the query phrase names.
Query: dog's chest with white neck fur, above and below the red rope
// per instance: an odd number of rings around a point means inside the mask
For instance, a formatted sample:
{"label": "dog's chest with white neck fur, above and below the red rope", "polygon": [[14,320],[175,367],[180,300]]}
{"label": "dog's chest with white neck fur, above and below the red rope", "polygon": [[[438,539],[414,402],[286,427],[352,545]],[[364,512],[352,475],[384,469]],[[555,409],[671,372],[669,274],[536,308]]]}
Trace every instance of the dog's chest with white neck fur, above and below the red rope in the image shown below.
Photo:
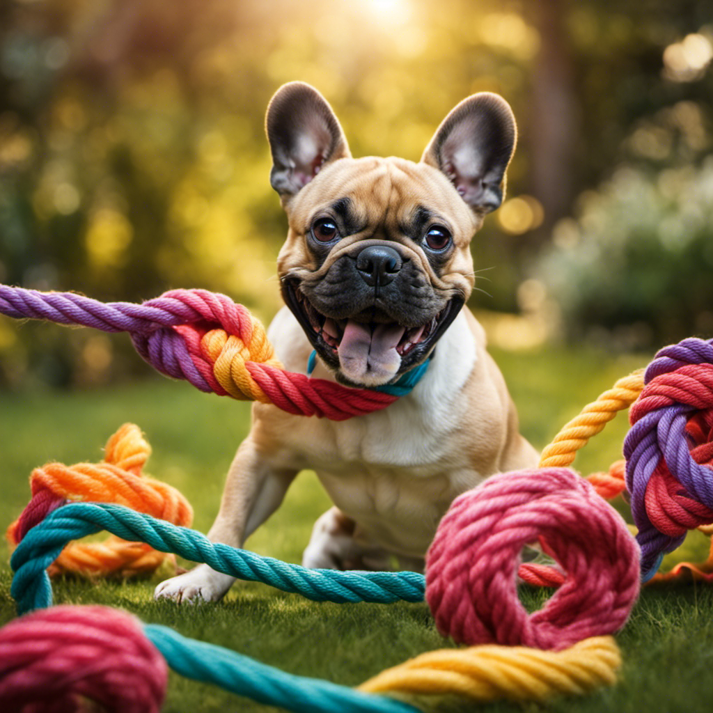
{"label": "dog's chest with white neck fur, above and below the red rope", "polygon": [[[304,372],[294,363],[294,353],[302,353],[294,340],[304,336],[292,314],[280,312],[269,336],[285,366]],[[475,339],[461,314],[411,394],[347,421],[278,417],[279,447],[269,458],[278,468],[316,471],[334,504],[375,544],[422,555],[448,504],[473,485],[471,461],[453,448],[453,434],[465,420],[461,396],[475,362]],[[318,366],[314,378],[331,377]]]}

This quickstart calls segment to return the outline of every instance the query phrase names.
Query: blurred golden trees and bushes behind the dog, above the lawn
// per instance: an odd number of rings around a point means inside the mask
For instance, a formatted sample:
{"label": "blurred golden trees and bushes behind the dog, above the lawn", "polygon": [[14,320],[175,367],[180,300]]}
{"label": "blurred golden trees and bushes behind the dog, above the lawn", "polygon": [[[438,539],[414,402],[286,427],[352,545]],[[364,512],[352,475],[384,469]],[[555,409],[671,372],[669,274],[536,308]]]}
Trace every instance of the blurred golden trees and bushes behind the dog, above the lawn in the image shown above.
{"label": "blurred golden trees and bushes behind the dog, above the lawn", "polygon": [[[491,342],[649,352],[713,334],[710,0],[4,0],[0,281],[279,304],[263,132],[314,84],[354,155],[418,160],[464,96],[520,142],[473,241]],[[128,340],[0,321],[0,388],[144,374]]]}

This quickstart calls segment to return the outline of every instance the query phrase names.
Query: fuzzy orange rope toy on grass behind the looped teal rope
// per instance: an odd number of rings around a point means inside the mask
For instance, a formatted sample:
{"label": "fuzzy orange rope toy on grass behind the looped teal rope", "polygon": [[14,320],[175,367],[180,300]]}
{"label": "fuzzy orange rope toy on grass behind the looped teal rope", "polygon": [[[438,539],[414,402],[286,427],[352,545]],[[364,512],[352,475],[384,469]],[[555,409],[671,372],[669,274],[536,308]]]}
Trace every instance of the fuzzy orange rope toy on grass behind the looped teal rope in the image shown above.
{"label": "fuzzy orange rope toy on grass behind the looped teal rope", "polygon": [[[151,448],[138,426],[124,424],[106,443],[104,461],[63,466],[48,463],[30,476],[32,499],[7,530],[11,545],[49,513],[67,502],[119,503],[133,510],[190,525],[193,508],[175,488],[143,475]],[[175,557],[168,555],[175,569]],[[48,569],[50,576],[78,573],[86,576],[153,573],[166,556],[140,542],[108,538],[103,543],[68,545]]]}

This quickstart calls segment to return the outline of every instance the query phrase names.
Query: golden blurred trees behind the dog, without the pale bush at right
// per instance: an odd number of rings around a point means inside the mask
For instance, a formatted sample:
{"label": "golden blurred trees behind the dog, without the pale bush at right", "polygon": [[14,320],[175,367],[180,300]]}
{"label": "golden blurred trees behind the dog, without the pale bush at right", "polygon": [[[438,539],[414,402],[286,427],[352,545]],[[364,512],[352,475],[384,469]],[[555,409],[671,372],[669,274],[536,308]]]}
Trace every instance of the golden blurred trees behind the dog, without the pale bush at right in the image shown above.
{"label": "golden blurred trees behind the dog, without the pale bush at right", "polygon": [[[262,122],[277,86],[299,78],[332,102],[355,155],[417,160],[461,98],[508,98],[520,124],[513,200],[486,220],[473,252],[476,270],[494,268],[478,304],[514,310],[551,227],[612,173],[637,123],[684,100],[709,123],[711,9],[711,0],[6,0],[0,280],[98,299],[207,287],[269,317],[284,217]],[[691,33],[704,38],[698,55],[683,44]],[[672,47],[678,64],[664,66]],[[134,373],[131,364],[110,338],[48,341],[0,321],[0,386],[101,383]]]}

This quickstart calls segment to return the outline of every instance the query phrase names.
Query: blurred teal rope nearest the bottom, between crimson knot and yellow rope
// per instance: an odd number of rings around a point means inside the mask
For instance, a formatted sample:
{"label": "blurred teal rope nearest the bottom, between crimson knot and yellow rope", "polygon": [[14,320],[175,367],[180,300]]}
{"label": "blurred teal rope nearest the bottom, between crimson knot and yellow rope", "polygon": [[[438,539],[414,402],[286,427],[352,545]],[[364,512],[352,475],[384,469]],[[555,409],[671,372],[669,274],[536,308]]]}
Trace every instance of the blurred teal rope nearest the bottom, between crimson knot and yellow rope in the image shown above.
{"label": "blurred teal rope nearest the bottom, between crimson knot and yellow rope", "polygon": [[168,627],[144,632],[177,673],[297,713],[419,713],[400,701],[285,673],[220,646],[188,639]]}

